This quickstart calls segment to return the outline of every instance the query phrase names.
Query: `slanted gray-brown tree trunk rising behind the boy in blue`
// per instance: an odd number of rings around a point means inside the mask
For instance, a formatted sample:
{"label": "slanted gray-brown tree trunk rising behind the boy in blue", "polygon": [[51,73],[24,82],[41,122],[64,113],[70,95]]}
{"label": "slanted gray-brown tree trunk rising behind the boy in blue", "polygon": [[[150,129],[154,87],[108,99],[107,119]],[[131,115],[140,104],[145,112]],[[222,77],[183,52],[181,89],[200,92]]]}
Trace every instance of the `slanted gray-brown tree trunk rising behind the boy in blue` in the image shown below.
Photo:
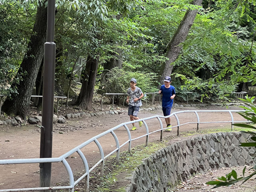
{"label": "slanted gray-brown tree trunk rising behind the boy in blue", "polygon": [[[201,5],[202,0],[194,0],[193,5]],[[184,42],[187,38],[187,34],[196,18],[197,9],[187,10],[186,14],[183,17],[183,20],[178,26],[178,29],[174,33],[171,41],[167,45],[167,57],[169,60],[165,62],[162,76],[160,79],[161,84],[163,84],[166,76],[170,76],[173,71],[172,63],[178,58],[178,55],[182,49],[182,46],[179,44]]]}

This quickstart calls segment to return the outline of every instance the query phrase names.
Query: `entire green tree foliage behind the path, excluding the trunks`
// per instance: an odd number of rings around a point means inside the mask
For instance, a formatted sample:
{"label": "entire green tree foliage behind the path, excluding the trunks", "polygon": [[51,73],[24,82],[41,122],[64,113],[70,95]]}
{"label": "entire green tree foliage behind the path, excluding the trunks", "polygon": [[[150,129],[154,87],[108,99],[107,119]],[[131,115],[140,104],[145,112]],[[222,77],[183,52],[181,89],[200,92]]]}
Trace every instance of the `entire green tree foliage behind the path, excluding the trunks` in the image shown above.
{"label": "entire green tree foliage behind the path, excluding the trunks", "polygon": [[[0,93],[10,83],[21,80],[15,75],[27,50],[37,6],[47,3],[1,0]],[[140,71],[143,77],[150,74],[153,79],[150,82],[155,82],[152,85],[158,85],[156,78],[167,60],[166,46],[187,9],[198,8],[189,3],[189,0],[56,0],[55,87],[66,93],[70,77],[85,66],[87,55],[100,55],[100,66],[110,59],[120,59],[126,76],[131,73],[133,77]],[[201,101],[228,100],[239,83],[256,82],[254,5],[255,0],[203,2],[183,43],[182,54],[174,62],[173,85],[183,101],[188,91],[195,92]],[[77,62],[79,59],[83,62]],[[101,72],[99,69],[97,81]],[[106,92],[126,90],[120,84],[128,86],[129,78],[126,82],[119,79],[118,86]],[[143,80],[138,81],[139,87],[145,90],[152,87],[143,87],[146,85]]]}

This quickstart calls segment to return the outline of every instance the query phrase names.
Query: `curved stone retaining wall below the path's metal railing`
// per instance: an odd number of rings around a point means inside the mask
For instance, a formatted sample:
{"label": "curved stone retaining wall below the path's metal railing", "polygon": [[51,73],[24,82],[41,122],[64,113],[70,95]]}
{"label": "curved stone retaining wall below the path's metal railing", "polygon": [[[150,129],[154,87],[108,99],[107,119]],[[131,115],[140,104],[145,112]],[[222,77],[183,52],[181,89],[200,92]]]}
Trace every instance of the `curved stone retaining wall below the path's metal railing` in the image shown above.
{"label": "curved stone retaining wall below the path's metal railing", "polygon": [[167,192],[193,174],[221,167],[253,165],[255,148],[240,147],[245,133],[214,133],[167,146],[139,165],[127,192]]}

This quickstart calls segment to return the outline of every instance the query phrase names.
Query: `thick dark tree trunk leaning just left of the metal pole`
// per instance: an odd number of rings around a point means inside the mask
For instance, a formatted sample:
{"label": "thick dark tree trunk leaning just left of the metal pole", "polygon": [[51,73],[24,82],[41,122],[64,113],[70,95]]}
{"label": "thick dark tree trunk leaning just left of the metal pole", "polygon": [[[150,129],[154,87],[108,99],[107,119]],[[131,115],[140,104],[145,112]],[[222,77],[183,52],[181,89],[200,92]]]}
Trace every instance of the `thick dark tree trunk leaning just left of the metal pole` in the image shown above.
{"label": "thick dark tree trunk leaning just left of the metal pole", "polygon": [[[46,41],[47,8],[45,5],[37,8],[36,21],[33,35],[28,43],[28,50],[18,70],[17,76],[22,74],[22,81],[17,86],[18,95],[11,94],[5,100],[2,110],[7,114],[20,115],[26,118],[29,113],[29,102],[32,95],[37,73],[44,55],[44,43]],[[17,78],[18,78],[17,77]]]}

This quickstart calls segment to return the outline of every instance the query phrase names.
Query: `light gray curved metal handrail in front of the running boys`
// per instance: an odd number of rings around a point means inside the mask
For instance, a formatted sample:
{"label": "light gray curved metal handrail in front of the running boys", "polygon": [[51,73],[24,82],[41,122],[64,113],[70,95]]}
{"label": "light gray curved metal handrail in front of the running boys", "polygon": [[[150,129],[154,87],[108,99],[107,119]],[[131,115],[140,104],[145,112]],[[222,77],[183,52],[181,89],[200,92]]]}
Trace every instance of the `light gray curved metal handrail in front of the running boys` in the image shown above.
{"label": "light gray curved metal handrail in front of the running boys", "polygon": [[[172,114],[170,114],[169,116],[161,116],[161,115],[155,115],[155,116],[151,116],[151,117],[147,117],[144,119],[137,119],[134,121],[129,121],[129,122],[125,122],[125,123],[121,123],[117,126],[115,126],[114,128],[110,128],[109,130],[106,130],[103,133],[100,133],[98,135],[96,135],[95,137],[92,137],[91,139],[87,140],[86,142],[83,142],[82,144],[80,144],[79,146],[73,148],[72,150],[68,151],[67,153],[65,153],[64,155],[59,156],[58,158],[34,158],[34,159],[16,159],[16,160],[0,160],[0,165],[8,165],[8,164],[28,164],[28,163],[53,163],[53,162],[62,162],[68,172],[69,175],[69,185],[68,186],[58,186],[58,187],[34,187],[34,188],[17,188],[17,189],[4,189],[4,190],[0,190],[0,192],[17,192],[17,191],[33,191],[33,190],[49,190],[49,189],[69,189],[70,192],[74,192],[74,186],[76,184],[78,184],[83,178],[86,178],[86,186],[85,186],[85,190],[87,192],[89,192],[89,174],[91,173],[91,171],[99,164],[101,164],[101,175],[104,174],[104,161],[107,157],[109,157],[110,155],[114,154],[114,152],[116,152],[117,154],[117,158],[116,160],[119,160],[119,152],[120,152],[120,148],[123,147],[124,145],[126,145],[128,143],[128,151],[131,151],[131,142],[134,140],[137,140],[139,138],[142,137],[146,137],[146,146],[148,145],[148,141],[149,141],[149,135],[151,135],[152,133],[156,133],[156,132],[160,132],[160,141],[162,141],[162,134],[163,131],[167,128],[163,128],[163,124],[160,120],[160,118],[165,119],[165,118],[169,118],[171,116],[174,116],[176,121],[177,121],[177,125],[173,126],[173,128],[177,127],[177,135],[179,135],[179,128],[180,126],[186,125],[186,124],[190,124],[190,123],[197,123],[197,131],[199,130],[199,124],[200,123],[231,123],[231,130],[233,129],[233,123],[244,123],[244,122],[249,122],[249,121],[234,121],[233,118],[233,112],[241,112],[244,110],[185,110],[185,111],[178,111],[178,112],[174,112]],[[228,112],[231,116],[231,121],[215,121],[215,122],[200,122],[200,118],[198,113],[202,113],[202,112]],[[196,118],[197,121],[196,122],[187,122],[187,123],[180,123],[178,115],[177,114],[182,114],[182,113],[195,113],[196,114]],[[160,129],[157,129],[153,132],[149,132],[146,120],[149,119],[157,119],[158,122],[160,123]],[[132,123],[137,123],[139,121],[142,121],[143,124],[145,125],[146,128],[146,134],[141,135],[139,137],[133,138],[131,137],[131,133],[130,130],[128,128],[128,124],[132,124]],[[116,136],[116,134],[114,133],[115,130],[117,130],[118,128],[125,128],[128,134],[128,140],[125,141],[123,144],[119,144],[119,140],[118,137]],[[116,143],[116,148],[111,151],[109,154],[104,154],[104,151],[102,149],[102,146],[100,144],[100,142],[98,141],[99,138],[107,135],[108,133],[111,133],[112,136],[114,137],[115,143]],[[91,169],[89,169],[89,165],[87,163],[87,159],[85,157],[85,155],[82,153],[81,149],[85,146],[87,146],[90,143],[95,142],[99,151],[100,151],[100,155],[101,155],[101,159],[96,162],[95,165],[92,166]],[[84,164],[85,167],[85,174],[83,174],[80,178],[78,178],[76,181],[74,181],[74,177],[73,177],[73,172],[72,169],[69,166],[69,163],[65,160],[69,155],[72,155],[73,153],[77,152],[78,155],[81,157],[82,162]]]}

